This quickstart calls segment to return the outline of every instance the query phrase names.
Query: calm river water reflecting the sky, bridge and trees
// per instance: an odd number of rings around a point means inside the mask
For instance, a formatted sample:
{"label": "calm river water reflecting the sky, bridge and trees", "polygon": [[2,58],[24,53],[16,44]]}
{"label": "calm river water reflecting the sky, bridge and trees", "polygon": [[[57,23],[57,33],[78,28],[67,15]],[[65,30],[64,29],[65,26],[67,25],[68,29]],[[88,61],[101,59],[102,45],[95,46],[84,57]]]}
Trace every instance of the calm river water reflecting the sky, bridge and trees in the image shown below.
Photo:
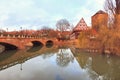
{"label": "calm river water reflecting the sky, bridge and trees", "polygon": [[120,57],[39,47],[0,54],[0,80],[120,80]]}

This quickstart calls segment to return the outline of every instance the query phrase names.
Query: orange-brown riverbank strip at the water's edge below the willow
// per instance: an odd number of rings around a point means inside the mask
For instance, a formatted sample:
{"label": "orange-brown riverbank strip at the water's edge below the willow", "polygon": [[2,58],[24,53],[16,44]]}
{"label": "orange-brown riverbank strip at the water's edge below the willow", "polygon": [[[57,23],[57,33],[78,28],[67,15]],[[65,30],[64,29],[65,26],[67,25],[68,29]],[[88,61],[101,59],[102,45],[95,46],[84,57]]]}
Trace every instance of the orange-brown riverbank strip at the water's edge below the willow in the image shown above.
{"label": "orange-brown riverbank strip at the water's edge below the willow", "polygon": [[71,40],[71,49],[78,52],[88,52],[96,54],[108,54],[108,55],[117,55],[120,56],[120,53],[115,53],[114,50],[105,49],[104,51],[101,48],[90,46],[89,44],[86,47],[81,47],[79,41]]}

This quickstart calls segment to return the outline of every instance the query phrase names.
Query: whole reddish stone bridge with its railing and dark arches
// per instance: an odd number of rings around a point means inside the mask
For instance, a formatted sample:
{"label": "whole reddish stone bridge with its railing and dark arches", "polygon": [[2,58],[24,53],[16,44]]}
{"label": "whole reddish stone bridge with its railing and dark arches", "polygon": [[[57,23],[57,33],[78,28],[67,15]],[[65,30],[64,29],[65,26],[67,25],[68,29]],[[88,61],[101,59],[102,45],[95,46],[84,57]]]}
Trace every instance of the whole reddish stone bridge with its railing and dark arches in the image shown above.
{"label": "whole reddish stone bridge with its railing and dark arches", "polygon": [[0,34],[0,45],[3,45],[5,49],[25,49],[30,46],[46,45],[47,43],[56,43],[56,38],[45,38],[35,36],[24,35],[3,35]]}

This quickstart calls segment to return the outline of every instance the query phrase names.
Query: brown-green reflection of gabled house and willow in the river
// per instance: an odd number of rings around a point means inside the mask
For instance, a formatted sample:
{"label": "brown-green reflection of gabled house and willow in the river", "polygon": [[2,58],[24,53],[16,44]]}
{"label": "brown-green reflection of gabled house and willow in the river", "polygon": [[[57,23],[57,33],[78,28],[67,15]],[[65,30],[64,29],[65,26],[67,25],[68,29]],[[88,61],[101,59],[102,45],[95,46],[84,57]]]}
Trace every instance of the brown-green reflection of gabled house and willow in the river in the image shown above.
{"label": "brown-green reflection of gabled house and willow in the river", "polygon": [[92,80],[119,80],[120,60],[118,56],[73,53],[80,67]]}

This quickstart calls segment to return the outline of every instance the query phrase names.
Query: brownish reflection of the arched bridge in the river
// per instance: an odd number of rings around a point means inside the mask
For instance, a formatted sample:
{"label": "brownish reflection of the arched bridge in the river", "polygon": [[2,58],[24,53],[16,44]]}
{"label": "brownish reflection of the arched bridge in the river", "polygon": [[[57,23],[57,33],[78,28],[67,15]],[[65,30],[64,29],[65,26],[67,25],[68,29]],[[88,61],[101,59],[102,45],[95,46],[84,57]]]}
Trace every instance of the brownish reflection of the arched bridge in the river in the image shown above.
{"label": "brownish reflection of the arched bridge in the river", "polygon": [[41,54],[44,54],[46,52],[56,53],[58,52],[58,48],[56,46],[53,46],[51,48],[42,47],[39,51],[36,52],[27,52],[24,50],[24,51],[17,51],[16,53],[9,53],[9,52],[7,54],[3,53],[6,56],[11,54],[11,56],[8,56],[5,59],[3,58],[2,60],[0,60],[0,70],[4,70],[16,64],[22,64],[25,61],[34,58],[36,56],[39,56]]}

